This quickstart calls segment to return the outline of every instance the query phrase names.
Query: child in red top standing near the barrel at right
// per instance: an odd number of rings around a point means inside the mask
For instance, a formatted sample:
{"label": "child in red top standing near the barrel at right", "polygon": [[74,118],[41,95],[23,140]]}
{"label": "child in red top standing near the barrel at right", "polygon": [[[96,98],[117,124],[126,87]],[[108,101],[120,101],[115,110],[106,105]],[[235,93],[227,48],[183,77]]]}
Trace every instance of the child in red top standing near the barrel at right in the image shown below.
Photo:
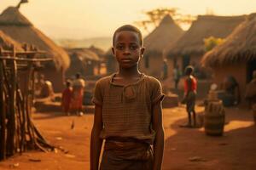
{"label": "child in red top standing near the barrel at right", "polygon": [[[184,80],[183,103],[185,103],[187,105],[189,122],[184,127],[195,127],[196,126],[195,95],[196,95],[197,82],[196,82],[195,77],[192,76],[193,71],[194,71],[194,68],[190,65],[185,68],[186,78]],[[191,112],[193,114],[193,119],[194,119],[193,126],[192,126],[192,120],[191,120]]]}

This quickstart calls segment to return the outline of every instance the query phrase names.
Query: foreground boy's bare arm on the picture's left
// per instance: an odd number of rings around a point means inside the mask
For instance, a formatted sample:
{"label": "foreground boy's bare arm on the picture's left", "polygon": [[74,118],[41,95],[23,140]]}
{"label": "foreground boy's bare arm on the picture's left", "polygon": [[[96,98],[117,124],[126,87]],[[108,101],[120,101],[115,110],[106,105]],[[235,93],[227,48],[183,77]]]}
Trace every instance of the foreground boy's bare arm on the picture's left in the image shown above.
{"label": "foreground boy's bare arm on the picture's left", "polygon": [[102,106],[95,105],[94,123],[90,135],[90,169],[98,170],[99,157],[102,150]]}

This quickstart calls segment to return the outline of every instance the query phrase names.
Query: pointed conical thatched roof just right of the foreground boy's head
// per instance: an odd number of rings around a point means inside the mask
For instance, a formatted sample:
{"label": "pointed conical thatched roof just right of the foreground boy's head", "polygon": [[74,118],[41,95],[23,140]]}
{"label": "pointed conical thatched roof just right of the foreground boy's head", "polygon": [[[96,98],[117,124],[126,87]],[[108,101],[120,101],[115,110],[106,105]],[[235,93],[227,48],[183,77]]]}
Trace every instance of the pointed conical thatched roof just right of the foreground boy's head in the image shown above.
{"label": "pointed conical thatched roof just right of the foreground boy's head", "polygon": [[160,25],[145,37],[145,55],[162,54],[165,48],[172,45],[173,42],[176,42],[177,39],[183,35],[183,32],[184,31],[172,20],[172,17],[169,14],[166,15],[163,20],[161,20]]}

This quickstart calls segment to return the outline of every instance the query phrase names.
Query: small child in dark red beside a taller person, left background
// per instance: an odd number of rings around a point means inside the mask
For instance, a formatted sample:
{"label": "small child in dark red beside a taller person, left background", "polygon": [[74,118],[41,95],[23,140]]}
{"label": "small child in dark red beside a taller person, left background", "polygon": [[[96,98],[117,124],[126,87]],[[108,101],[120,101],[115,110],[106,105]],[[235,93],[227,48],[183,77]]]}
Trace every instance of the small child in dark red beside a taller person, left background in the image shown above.
{"label": "small child in dark red beside a taller person, left background", "polygon": [[66,88],[62,92],[62,100],[61,100],[63,111],[67,116],[70,115],[70,102],[72,99],[72,94],[73,94],[73,89],[71,88],[71,83],[67,81]]}

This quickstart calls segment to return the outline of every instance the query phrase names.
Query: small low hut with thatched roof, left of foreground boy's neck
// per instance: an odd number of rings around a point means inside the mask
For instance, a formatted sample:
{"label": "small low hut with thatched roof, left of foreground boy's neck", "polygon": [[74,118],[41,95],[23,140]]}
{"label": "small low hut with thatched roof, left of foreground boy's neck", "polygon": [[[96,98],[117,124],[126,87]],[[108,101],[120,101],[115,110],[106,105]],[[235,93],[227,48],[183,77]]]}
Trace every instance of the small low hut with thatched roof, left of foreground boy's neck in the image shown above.
{"label": "small low hut with thatched roof, left of foreground boy's neck", "polygon": [[73,77],[78,72],[83,77],[99,74],[102,61],[96,53],[87,48],[69,48],[66,50],[71,59],[71,65],[66,72],[67,77]]}

